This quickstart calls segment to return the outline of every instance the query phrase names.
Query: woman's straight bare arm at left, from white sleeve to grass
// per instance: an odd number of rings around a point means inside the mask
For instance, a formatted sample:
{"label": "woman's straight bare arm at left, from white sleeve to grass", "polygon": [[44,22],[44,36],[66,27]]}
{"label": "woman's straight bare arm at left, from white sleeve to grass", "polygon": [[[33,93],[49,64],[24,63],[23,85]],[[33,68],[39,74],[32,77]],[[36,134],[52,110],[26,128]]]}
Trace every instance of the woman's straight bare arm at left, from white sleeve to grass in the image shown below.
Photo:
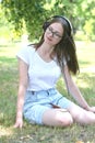
{"label": "woman's straight bare arm at left, from white sleeve to grass", "polygon": [[27,70],[28,70],[27,64],[19,58],[20,81],[19,81],[19,92],[17,92],[16,121],[14,128],[23,127],[23,105],[24,105],[24,96],[28,82]]}

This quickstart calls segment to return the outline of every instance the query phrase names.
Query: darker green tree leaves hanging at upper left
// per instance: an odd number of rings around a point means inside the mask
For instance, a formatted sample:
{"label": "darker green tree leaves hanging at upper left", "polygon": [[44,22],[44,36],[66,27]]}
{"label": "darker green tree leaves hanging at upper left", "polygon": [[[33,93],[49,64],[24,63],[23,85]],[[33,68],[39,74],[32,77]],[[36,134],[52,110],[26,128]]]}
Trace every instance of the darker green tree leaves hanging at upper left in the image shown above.
{"label": "darker green tree leaves hanging at upper left", "polygon": [[[2,6],[9,22],[12,22],[17,33],[22,35],[22,28],[26,28],[29,36],[38,37],[39,26],[44,19],[43,2],[37,0],[3,0]],[[34,31],[35,29],[35,31]]]}

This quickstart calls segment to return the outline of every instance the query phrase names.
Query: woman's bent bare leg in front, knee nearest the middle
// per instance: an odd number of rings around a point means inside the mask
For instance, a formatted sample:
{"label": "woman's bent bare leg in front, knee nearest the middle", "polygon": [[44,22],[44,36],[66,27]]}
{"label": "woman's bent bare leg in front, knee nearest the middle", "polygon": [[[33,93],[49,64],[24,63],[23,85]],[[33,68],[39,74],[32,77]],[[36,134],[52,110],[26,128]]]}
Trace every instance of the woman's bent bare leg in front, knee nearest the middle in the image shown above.
{"label": "woman's bent bare leg in front, knee nearest the middle", "polygon": [[43,123],[51,127],[68,127],[73,123],[73,119],[67,110],[49,109],[43,116]]}

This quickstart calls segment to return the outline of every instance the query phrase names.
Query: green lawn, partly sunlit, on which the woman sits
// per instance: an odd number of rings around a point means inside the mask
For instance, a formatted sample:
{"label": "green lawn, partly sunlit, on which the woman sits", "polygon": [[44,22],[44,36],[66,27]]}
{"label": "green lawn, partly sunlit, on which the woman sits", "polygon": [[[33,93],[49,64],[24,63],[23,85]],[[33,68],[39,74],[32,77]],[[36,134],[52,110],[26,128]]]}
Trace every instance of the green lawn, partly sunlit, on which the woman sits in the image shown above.
{"label": "green lawn, partly sunlit, on which the woman sits", "polygon": [[[81,74],[73,79],[90,105],[95,105],[95,43],[76,43]],[[95,143],[95,125],[48,128],[24,121],[22,130],[14,129],[17,95],[16,52],[20,44],[0,45],[0,143]],[[60,92],[69,97],[64,82],[57,84]],[[73,99],[72,99],[73,100]],[[81,142],[78,142],[81,141]]]}

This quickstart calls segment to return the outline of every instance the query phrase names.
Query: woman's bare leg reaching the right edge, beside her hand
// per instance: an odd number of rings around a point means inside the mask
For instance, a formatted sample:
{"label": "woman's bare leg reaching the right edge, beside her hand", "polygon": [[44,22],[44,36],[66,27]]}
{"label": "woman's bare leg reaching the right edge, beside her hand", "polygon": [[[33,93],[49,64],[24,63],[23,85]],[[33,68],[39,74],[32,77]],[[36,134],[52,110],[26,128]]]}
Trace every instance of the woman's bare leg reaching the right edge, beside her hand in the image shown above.
{"label": "woman's bare leg reaching the right edge, beside her hand", "polygon": [[95,123],[95,113],[93,113],[91,111],[86,111],[83,108],[81,108],[74,103],[68,110],[75,122],[79,122],[81,124]]}

